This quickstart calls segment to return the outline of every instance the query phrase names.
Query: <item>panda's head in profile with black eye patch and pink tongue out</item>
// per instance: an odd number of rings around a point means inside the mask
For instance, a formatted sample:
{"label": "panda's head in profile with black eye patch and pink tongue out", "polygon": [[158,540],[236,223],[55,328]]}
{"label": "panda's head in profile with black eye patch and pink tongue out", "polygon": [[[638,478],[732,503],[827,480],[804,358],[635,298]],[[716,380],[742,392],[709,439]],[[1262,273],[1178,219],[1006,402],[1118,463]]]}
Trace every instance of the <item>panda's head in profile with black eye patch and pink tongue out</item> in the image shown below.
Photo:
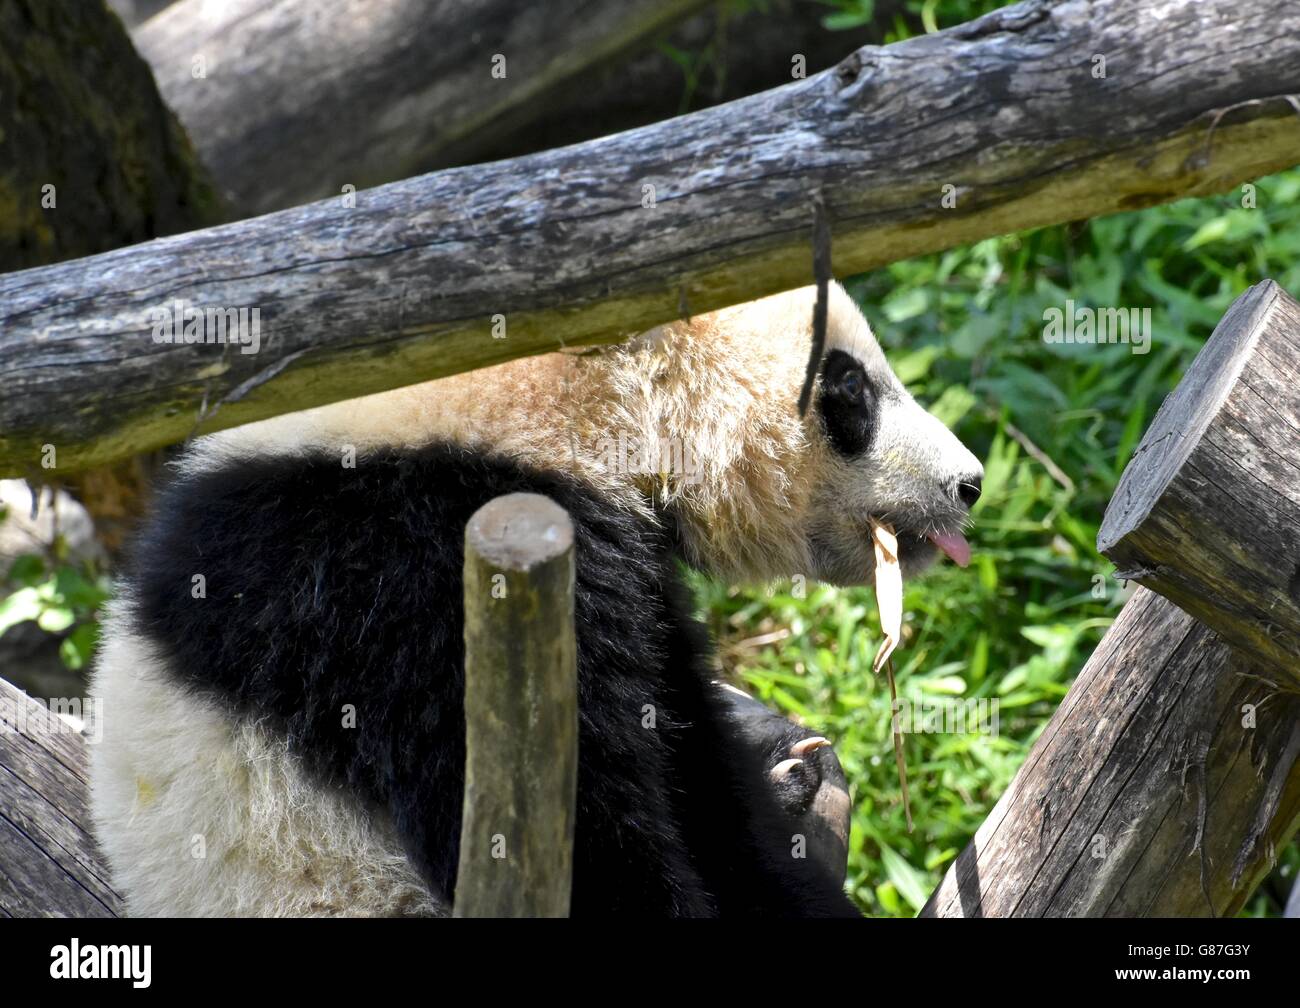
{"label": "panda's head in profile with black eye patch and pink tongue out", "polygon": [[941,554],[965,566],[983,468],[911,398],[837,284],[798,415],[815,295],[805,287],[664,326],[650,334],[656,363],[630,368],[651,403],[647,436],[696,449],[694,479],[649,488],[686,558],[732,580],[868,584],[875,520],[896,531],[905,576]]}

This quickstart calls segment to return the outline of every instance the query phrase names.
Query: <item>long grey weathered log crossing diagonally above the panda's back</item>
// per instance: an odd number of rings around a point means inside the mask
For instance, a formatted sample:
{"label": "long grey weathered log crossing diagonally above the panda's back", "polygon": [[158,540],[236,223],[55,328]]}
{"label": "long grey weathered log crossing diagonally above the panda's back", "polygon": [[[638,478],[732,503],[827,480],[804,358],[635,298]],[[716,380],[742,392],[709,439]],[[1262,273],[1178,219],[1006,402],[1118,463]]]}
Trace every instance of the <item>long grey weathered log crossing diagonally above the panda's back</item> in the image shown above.
{"label": "long grey weathered log crossing diagonally above the panda's back", "polygon": [[[1092,53],[1109,55],[1104,79]],[[853,273],[1221,191],[1300,163],[1295,92],[1294,3],[1027,3],[355,208],[0,277],[0,475],[38,466],[43,445],[84,467],[806,284],[816,192]],[[177,299],[257,307],[260,352],[155,343],[151,311]]]}

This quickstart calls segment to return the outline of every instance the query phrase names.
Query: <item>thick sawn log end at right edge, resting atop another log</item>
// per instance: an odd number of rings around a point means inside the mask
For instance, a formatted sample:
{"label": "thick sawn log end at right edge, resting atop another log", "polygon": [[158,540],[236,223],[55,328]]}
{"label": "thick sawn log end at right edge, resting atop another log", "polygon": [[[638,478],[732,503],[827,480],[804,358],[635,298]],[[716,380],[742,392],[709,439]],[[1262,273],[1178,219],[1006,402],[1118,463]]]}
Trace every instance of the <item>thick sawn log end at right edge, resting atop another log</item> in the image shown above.
{"label": "thick sawn log end at right edge, resting atop another log", "polygon": [[1097,549],[1300,692],[1300,304],[1236,299],[1161,406]]}

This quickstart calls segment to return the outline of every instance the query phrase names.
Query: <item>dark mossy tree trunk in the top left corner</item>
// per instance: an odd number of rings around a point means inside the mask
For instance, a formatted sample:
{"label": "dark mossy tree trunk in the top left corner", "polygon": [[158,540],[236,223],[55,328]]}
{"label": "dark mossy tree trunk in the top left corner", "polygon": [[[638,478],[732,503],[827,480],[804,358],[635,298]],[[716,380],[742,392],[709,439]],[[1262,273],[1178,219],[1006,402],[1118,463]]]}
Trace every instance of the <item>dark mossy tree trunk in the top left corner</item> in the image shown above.
{"label": "dark mossy tree trunk in the top left corner", "polygon": [[0,3],[0,272],[218,220],[185,133],[103,4]]}

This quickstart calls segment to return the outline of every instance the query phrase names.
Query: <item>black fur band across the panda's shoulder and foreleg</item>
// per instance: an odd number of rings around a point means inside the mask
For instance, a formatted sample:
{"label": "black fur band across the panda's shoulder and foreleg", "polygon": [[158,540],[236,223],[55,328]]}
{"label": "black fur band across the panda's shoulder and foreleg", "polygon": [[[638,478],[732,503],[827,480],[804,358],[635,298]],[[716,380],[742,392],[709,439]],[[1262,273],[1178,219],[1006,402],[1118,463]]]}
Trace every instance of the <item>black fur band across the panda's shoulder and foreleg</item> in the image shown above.
{"label": "black fur band across the panda's shoulder and foreleg", "polygon": [[134,619],[190,687],[283,732],[322,786],[387,810],[450,899],[464,525],[515,490],[551,497],[576,531],[573,913],[854,916],[832,878],[792,857],[764,754],[710,683],[667,535],[573,479],[445,444],[355,468],[263,457],[185,476],[138,544]]}

